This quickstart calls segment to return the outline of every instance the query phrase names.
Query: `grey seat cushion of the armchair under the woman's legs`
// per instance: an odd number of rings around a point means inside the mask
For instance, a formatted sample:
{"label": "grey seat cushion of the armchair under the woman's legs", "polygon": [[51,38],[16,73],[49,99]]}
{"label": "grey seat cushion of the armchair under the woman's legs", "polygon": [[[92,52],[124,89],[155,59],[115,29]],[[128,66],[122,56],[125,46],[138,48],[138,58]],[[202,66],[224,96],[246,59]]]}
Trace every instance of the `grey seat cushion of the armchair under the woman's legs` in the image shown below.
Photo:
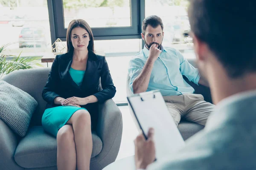
{"label": "grey seat cushion of the armchair under the woman's legs", "polygon": [[[97,156],[102,150],[102,141],[95,132],[93,137],[93,152]],[[57,140],[43,130],[42,126],[32,126],[27,135],[20,140],[14,159],[18,165],[25,168],[50,167],[57,165]]]}

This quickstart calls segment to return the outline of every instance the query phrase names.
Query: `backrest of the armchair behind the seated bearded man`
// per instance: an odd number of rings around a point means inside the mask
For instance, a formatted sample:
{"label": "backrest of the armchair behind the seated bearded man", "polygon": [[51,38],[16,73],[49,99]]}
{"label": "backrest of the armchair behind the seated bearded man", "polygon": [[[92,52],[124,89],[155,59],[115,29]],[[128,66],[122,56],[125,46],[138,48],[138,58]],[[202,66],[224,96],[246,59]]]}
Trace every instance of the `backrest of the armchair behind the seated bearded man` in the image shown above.
{"label": "backrest of the armchair behind the seated bearded man", "polygon": [[[197,68],[195,59],[188,59],[188,61],[191,65],[193,65],[195,68]],[[208,87],[205,87],[203,85],[196,85],[193,82],[189,82],[189,80],[185,76],[183,76],[183,78],[189,85],[191,85],[195,89],[195,94],[202,94],[204,96],[205,101],[212,103],[211,92]],[[129,88],[129,81],[130,81],[130,77],[128,75],[127,79],[126,79],[126,94],[127,94],[127,96],[133,95],[133,93],[131,92],[131,89]]]}

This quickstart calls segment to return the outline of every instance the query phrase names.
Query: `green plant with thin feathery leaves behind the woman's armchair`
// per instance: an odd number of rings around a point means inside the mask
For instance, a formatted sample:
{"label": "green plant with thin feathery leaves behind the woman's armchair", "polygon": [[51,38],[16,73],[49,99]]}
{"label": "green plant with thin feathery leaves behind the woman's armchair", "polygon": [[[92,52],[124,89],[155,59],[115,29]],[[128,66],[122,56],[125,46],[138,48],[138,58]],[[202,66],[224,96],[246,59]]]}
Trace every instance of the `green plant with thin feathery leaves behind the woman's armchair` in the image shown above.
{"label": "green plant with thin feathery leaves behind the woman's armchair", "polygon": [[[0,47],[0,79],[4,75],[15,70],[34,68],[35,65],[44,67],[38,63],[38,60],[41,59],[41,57],[20,57],[21,52],[18,56],[3,54],[3,51],[8,45],[11,45],[11,43]],[[8,60],[6,57],[14,58],[12,60]]]}

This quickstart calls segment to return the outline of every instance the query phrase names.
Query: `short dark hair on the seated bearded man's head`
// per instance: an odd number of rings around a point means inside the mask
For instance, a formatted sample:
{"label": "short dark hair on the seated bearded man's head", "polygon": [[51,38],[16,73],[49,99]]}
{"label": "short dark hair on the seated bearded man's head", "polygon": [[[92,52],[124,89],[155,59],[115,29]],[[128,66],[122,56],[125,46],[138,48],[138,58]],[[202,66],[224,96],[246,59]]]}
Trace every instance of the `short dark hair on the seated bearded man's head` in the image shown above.
{"label": "short dark hair on the seated bearded man's head", "polygon": [[142,34],[145,34],[147,26],[150,25],[153,28],[157,28],[159,25],[163,30],[163,22],[162,19],[156,15],[150,15],[146,17],[142,22]]}

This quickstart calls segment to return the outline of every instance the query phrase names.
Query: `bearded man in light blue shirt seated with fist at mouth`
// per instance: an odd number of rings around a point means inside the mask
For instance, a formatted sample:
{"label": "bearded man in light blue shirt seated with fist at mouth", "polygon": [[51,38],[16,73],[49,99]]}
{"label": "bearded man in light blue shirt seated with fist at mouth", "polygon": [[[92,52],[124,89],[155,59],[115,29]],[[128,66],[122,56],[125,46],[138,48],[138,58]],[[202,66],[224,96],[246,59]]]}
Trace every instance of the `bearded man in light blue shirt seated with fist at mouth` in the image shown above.
{"label": "bearded man in light blue shirt seated with fist at mouth", "polygon": [[160,89],[176,125],[181,118],[205,125],[214,105],[204,101],[201,94],[193,94],[195,90],[182,75],[195,84],[207,82],[180,51],[162,46],[163,35],[160,17],[151,15],[143,20],[141,36],[145,47],[129,63],[131,91],[136,94]]}

